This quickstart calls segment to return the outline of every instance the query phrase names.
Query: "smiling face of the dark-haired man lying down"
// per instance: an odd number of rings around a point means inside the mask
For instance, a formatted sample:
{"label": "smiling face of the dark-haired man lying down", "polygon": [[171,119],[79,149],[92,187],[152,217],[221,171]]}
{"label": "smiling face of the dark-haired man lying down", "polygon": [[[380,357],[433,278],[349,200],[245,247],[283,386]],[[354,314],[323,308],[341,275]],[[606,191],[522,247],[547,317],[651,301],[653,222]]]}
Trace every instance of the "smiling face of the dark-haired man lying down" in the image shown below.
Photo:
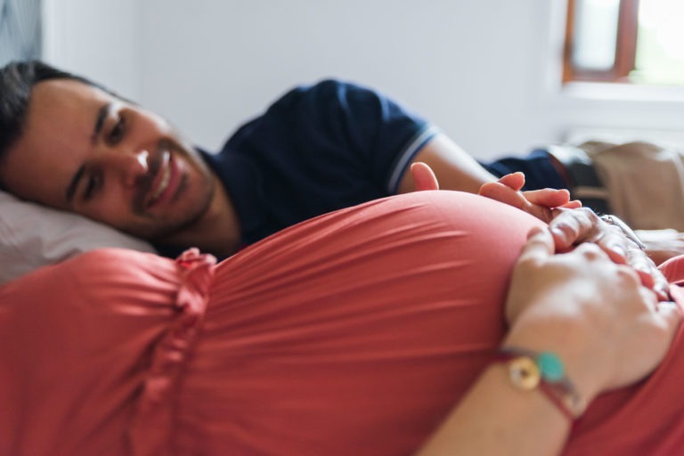
{"label": "smiling face of the dark-haired man lying down", "polygon": [[216,186],[163,118],[69,79],[35,85],[0,180],[22,199],[152,240],[199,220]]}

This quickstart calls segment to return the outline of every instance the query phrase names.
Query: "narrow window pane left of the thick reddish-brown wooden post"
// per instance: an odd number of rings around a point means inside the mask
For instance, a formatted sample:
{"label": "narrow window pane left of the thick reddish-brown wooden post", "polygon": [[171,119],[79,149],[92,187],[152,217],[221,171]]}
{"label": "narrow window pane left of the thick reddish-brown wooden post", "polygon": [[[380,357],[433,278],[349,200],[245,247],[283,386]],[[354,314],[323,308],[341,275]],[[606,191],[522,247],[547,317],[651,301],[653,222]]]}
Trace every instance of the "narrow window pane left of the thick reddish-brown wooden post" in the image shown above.
{"label": "narrow window pane left of the thick reddish-brown wooden post", "polygon": [[620,0],[576,1],[572,55],[574,68],[599,71],[613,68],[619,12]]}

